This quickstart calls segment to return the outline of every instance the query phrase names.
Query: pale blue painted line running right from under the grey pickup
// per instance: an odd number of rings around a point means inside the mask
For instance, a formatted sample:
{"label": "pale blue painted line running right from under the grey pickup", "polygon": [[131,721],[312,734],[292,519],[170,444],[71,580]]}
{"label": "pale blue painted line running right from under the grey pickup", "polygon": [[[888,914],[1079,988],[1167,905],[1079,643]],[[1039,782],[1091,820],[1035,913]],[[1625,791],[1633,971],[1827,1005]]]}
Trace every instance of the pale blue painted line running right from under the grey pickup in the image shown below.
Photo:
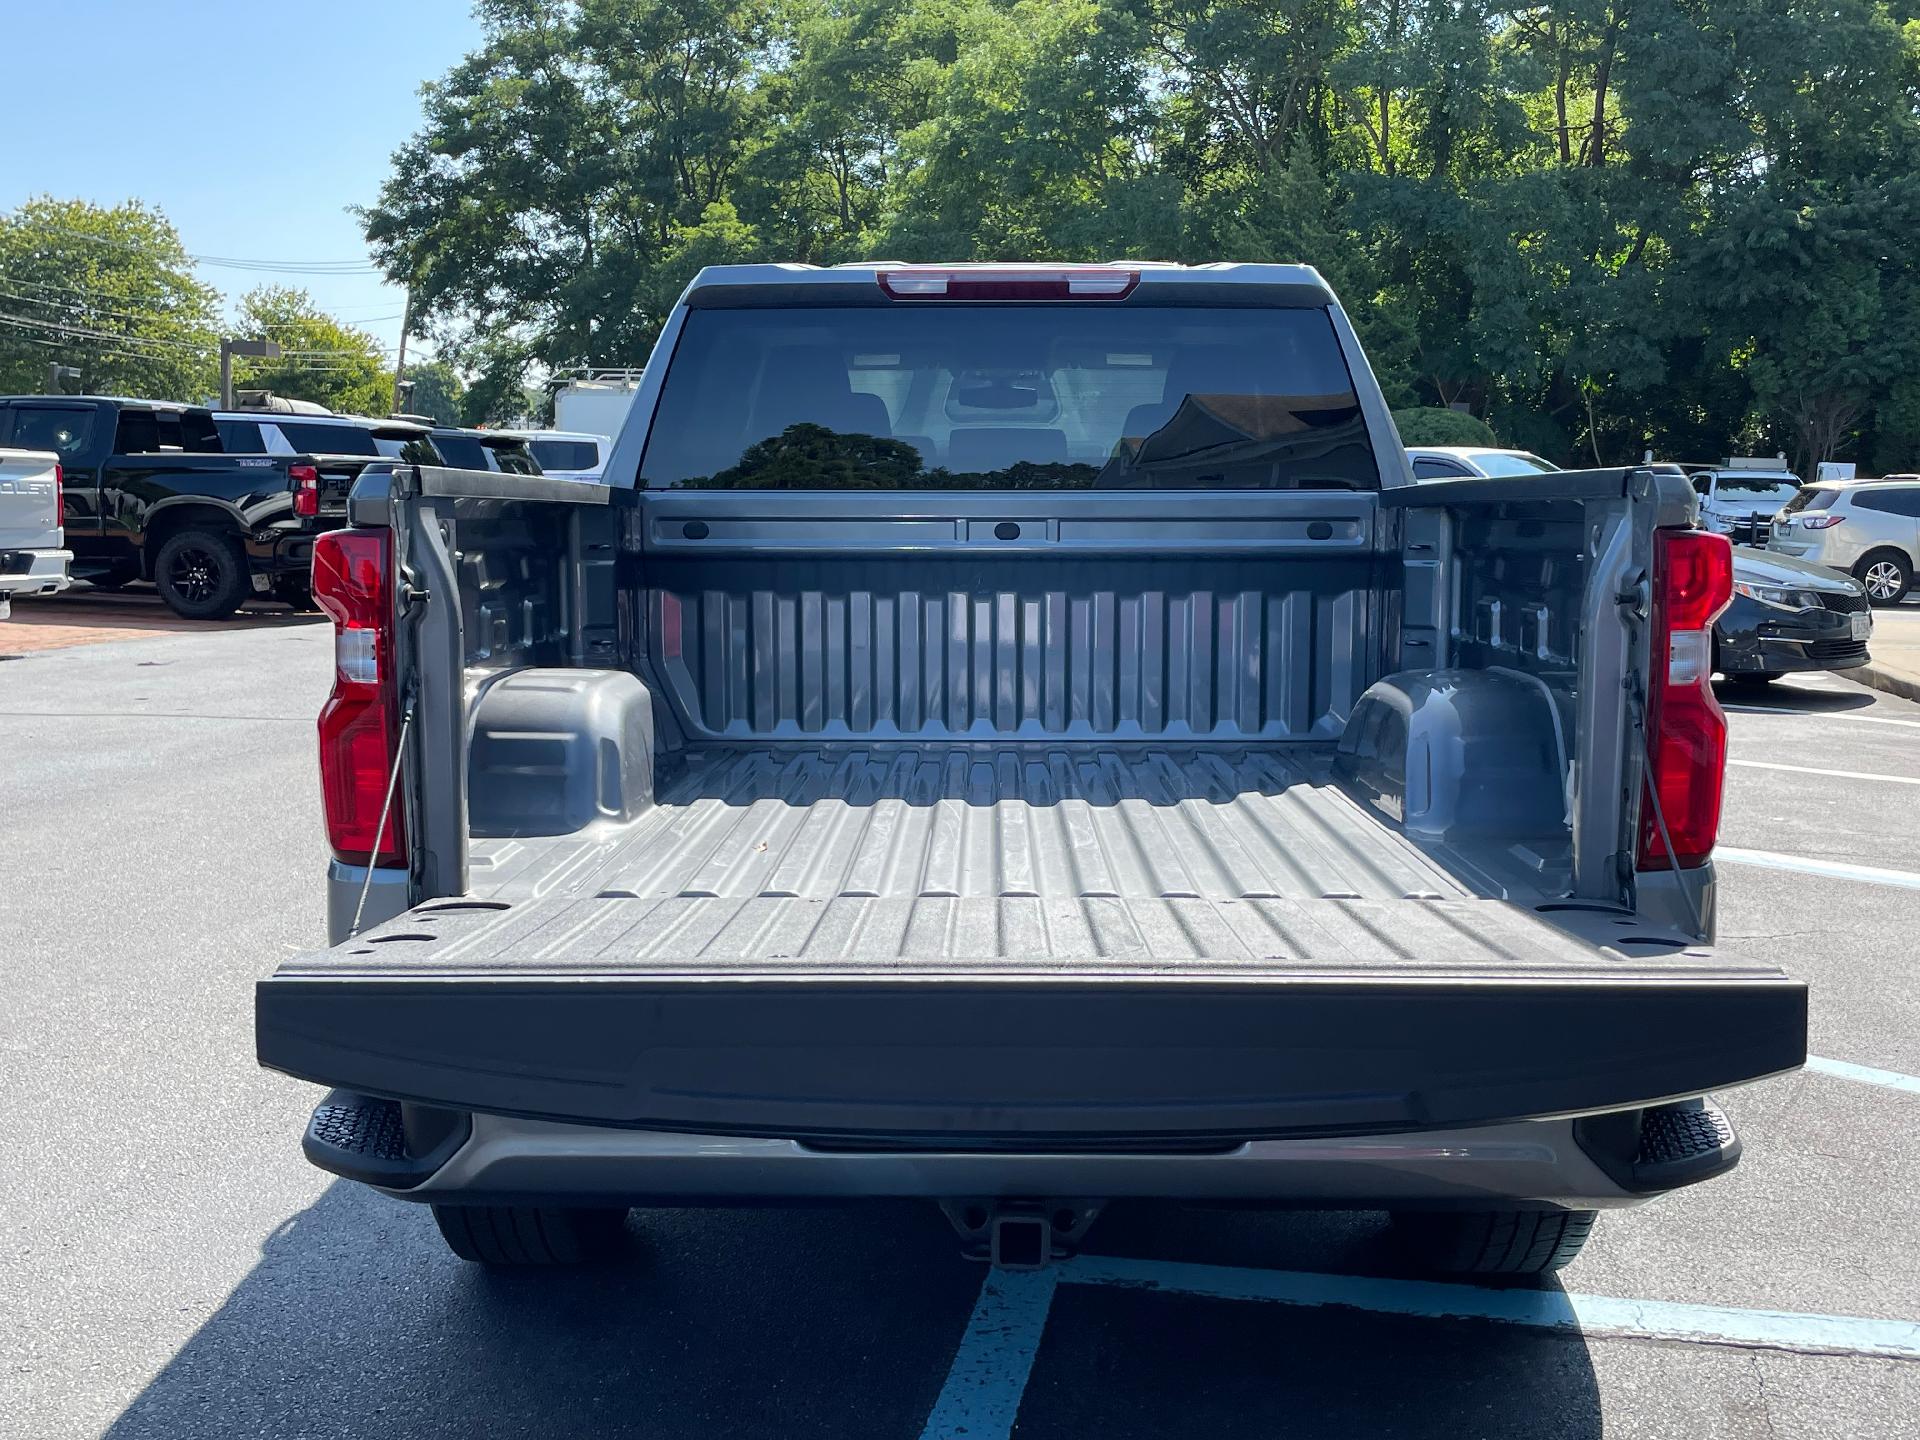
{"label": "pale blue painted line running right from under the grey pickup", "polygon": [[1117,1256],[1079,1256],[1066,1261],[1062,1269],[1066,1273],[1060,1279],[1077,1284],[1117,1284],[1213,1300],[1346,1306],[1384,1315],[1484,1319],[1634,1340],[1692,1340],[1820,1356],[1920,1359],[1920,1321],[1814,1315],[1789,1309],[1734,1309],[1668,1300],[1620,1300],[1565,1290],[1490,1290],[1442,1281],[1236,1269]]}

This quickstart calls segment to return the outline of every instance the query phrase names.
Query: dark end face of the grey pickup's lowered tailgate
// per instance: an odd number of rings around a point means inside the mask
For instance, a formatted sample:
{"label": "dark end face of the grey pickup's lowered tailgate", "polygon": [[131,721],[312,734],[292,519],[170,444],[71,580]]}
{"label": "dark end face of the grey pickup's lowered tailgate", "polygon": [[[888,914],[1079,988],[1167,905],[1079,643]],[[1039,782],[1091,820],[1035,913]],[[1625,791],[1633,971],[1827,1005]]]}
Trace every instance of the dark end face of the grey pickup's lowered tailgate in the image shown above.
{"label": "dark end face of the grey pickup's lowered tailgate", "polygon": [[[346,954],[371,966],[392,943]],[[1578,977],[282,970],[259,983],[255,1043],[261,1064],[301,1079],[530,1121],[1146,1148],[1473,1129],[1697,1096],[1797,1068],[1807,991],[1726,960],[1626,958]]]}

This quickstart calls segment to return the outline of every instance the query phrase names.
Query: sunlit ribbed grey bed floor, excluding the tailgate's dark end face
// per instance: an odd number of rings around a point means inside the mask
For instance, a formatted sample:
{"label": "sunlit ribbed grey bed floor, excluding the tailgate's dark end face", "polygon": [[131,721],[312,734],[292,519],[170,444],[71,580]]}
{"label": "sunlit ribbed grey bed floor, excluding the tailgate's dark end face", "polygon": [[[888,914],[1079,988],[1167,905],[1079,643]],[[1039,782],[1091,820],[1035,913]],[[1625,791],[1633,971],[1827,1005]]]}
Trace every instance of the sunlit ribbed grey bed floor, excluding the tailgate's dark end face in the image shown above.
{"label": "sunlit ribbed grey bed floor, excluding the tailgate's dark end face", "polygon": [[1315,783],[1309,762],[1217,749],[705,751],[632,826],[474,841],[467,904],[420,906],[334,954],[436,972],[1601,958],[1476,897]]}

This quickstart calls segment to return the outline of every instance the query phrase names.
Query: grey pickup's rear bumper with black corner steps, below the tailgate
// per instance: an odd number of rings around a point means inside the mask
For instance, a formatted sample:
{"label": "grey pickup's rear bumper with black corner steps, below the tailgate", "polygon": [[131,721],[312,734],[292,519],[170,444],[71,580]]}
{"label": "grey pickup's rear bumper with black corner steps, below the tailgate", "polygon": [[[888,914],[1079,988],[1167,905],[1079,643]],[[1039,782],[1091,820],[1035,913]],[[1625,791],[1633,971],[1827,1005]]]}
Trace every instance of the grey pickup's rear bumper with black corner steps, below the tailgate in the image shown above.
{"label": "grey pickup's rear bumper with black corner steps, below the tailgate", "polygon": [[[1693,1108],[1695,1116],[1705,1114]],[[1171,1198],[1311,1208],[1538,1204],[1574,1210],[1632,1206],[1649,1194],[1722,1175],[1740,1142],[1718,1112],[1718,1135],[1661,1175],[1636,1175],[1640,1116],[1630,1135],[1584,1121],[1513,1121],[1302,1140],[1250,1140],[1206,1154],[979,1154],[956,1150],[831,1150],[787,1139],[595,1129],[503,1116],[459,1116],[424,1135],[419,1160],[399,1148],[399,1108],[334,1092],[315,1112],[305,1150],[321,1167],[407,1200],[459,1204],[689,1204],[818,1198]],[[417,1119],[417,1116],[415,1116]],[[1670,1127],[1668,1127],[1670,1129]],[[1647,1135],[1661,1133],[1649,1127]],[[1611,1146],[1611,1148],[1609,1148]],[[388,1154],[369,1154],[386,1150]]]}

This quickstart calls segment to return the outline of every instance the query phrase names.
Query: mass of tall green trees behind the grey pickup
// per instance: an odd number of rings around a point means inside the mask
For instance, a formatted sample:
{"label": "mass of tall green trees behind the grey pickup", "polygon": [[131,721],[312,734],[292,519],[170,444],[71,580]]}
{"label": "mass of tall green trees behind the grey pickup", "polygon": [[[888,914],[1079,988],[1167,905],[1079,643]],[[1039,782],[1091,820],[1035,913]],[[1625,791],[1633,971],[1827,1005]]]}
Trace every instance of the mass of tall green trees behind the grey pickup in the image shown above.
{"label": "mass of tall green trees behind the grey pickup", "polygon": [[[1905,12],[1899,12],[1905,13]],[[1298,259],[1396,405],[1920,461],[1878,0],[484,0],[367,215],[472,413],[735,259]]]}

